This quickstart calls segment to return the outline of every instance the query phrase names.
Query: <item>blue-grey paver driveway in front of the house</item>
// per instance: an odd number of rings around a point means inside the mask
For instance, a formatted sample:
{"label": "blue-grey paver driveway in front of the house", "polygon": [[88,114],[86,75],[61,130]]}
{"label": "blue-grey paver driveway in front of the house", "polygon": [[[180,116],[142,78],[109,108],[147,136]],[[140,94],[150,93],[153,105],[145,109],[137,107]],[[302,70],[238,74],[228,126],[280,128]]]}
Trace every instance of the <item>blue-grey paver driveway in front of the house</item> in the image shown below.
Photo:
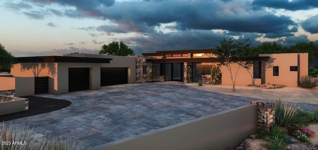
{"label": "blue-grey paver driveway in front of the house", "polygon": [[[70,100],[69,107],[12,120],[91,148],[150,130],[249,104],[253,98],[202,91],[182,83],[141,83],[41,97]],[[8,123],[8,122],[6,122]]]}

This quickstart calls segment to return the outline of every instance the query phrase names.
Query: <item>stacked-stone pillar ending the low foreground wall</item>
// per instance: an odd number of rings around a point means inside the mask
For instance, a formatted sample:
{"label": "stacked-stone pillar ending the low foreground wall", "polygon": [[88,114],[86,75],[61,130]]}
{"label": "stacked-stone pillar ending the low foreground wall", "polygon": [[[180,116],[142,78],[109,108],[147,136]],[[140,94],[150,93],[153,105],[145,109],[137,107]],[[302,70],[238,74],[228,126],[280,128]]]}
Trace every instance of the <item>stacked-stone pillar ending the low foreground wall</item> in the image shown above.
{"label": "stacked-stone pillar ending the low foreground wall", "polygon": [[275,125],[275,103],[274,102],[258,102],[250,101],[250,104],[257,104],[258,119],[257,128],[260,132],[268,132],[271,125]]}

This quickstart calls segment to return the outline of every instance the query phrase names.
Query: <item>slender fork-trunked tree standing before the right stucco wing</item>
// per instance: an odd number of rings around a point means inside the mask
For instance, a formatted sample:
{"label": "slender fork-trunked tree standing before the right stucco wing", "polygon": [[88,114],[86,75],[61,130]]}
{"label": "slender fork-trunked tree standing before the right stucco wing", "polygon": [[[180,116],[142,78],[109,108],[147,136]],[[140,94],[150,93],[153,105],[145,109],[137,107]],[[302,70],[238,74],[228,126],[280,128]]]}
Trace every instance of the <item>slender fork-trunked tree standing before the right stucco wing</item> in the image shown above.
{"label": "slender fork-trunked tree standing before the right stucco wing", "polygon": [[[239,73],[239,68],[247,68],[247,64],[251,62],[243,62],[244,57],[246,57],[245,51],[249,50],[249,43],[248,39],[242,43],[234,43],[233,38],[230,38],[229,41],[227,41],[225,38],[223,38],[222,41],[220,41],[220,45],[216,46],[216,49],[214,50],[214,54],[218,56],[218,62],[222,65],[226,66],[226,68],[230,71],[231,74],[231,80],[233,89],[232,91],[235,92],[235,83],[236,78]],[[239,65],[237,70],[234,70],[231,66],[231,64],[237,63]]]}

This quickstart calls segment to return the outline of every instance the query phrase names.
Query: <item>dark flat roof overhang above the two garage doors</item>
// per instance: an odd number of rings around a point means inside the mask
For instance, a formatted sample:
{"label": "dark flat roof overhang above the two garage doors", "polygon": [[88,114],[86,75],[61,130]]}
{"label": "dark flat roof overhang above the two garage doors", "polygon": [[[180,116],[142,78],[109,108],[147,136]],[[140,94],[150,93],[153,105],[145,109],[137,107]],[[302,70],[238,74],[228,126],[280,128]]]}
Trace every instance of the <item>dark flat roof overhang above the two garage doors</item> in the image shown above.
{"label": "dark flat roof overhang above the two garage doors", "polygon": [[21,62],[81,62],[81,63],[110,63],[111,58],[71,57],[71,56],[34,56],[16,57]]}

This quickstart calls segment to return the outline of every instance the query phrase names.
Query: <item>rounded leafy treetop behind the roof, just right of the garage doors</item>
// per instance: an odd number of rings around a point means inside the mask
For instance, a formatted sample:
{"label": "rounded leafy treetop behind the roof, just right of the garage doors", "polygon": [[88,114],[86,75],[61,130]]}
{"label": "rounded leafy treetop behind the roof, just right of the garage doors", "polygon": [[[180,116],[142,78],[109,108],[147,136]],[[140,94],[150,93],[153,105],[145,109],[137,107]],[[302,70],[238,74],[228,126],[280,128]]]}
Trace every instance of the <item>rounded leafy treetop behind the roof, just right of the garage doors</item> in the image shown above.
{"label": "rounded leafy treetop behind the roof, just right of the garage doors", "polygon": [[103,45],[99,54],[108,54],[108,55],[118,55],[118,56],[127,56],[135,55],[134,50],[131,50],[123,42],[112,42],[108,45]]}

